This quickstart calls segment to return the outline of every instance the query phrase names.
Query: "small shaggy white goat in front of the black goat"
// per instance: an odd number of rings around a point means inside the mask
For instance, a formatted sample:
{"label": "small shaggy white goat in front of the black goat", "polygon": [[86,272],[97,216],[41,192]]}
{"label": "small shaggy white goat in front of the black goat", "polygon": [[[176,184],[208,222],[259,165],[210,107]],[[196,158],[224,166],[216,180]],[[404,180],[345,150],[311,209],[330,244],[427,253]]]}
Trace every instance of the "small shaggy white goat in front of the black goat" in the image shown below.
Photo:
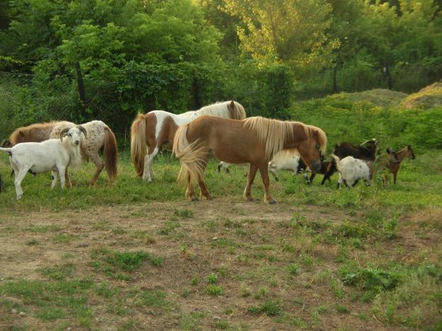
{"label": "small shaggy white goat in front of the black goat", "polygon": [[373,161],[361,160],[353,156],[346,156],[339,160],[335,154],[336,168],[339,171],[339,180],[337,186],[340,187],[342,182],[346,186],[354,187],[359,180],[364,180],[366,185],[370,185],[370,180],[373,177]]}

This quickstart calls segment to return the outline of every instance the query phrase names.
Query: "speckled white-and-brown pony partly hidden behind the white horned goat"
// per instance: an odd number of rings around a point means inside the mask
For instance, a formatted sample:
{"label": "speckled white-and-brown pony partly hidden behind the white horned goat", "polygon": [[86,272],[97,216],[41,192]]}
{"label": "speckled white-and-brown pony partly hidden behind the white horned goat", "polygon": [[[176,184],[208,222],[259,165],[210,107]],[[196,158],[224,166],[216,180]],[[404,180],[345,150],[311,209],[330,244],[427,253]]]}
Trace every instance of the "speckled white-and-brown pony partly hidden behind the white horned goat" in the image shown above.
{"label": "speckled white-and-brown pony partly hidden behind the white horned goat", "polygon": [[[88,137],[81,141],[81,153],[83,158],[91,159],[95,163],[95,174],[91,179],[90,185],[95,185],[98,176],[103,168],[106,168],[107,177],[110,184],[115,181],[117,177],[117,139],[110,127],[101,121],[91,121],[81,124],[88,132]],[[39,142],[51,138],[58,138],[63,129],[75,127],[76,124],[72,122],[47,122],[29,125],[28,127],[19,127],[9,137],[9,141],[5,141],[4,145],[14,146],[21,142]],[[99,151],[103,149],[104,162],[99,156]],[[66,171],[66,186],[71,187],[71,180]]]}

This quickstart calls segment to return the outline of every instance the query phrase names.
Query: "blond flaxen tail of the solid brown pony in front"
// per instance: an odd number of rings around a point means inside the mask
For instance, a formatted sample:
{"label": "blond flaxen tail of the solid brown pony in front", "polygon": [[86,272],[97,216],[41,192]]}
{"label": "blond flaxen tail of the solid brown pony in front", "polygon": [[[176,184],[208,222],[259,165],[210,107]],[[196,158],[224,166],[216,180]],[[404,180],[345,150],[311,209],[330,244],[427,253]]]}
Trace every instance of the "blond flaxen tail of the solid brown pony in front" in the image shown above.
{"label": "blond flaxen tail of the solid brown pony in front", "polygon": [[204,159],[207,156],[207,149],[196,140],[189,143],[187,140],[187,124],[178,127],[173,139],[172,153],[180,159],[181,169],[178,174],[178,182],[187,182],[187,174],[191,180],[198,180],[204,174]]}

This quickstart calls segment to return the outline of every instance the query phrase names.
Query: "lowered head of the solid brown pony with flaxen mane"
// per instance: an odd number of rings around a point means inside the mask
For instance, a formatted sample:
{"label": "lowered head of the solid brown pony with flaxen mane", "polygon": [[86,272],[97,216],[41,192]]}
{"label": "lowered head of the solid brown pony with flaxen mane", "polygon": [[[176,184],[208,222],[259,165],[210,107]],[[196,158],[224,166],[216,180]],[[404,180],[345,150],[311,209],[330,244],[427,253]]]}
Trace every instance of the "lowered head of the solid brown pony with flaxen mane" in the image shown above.
{"label": "lowered head of the solid brown pony with flaxen mane", "polygon": [[307,139],[303,139],[297,149],[308,168],[317,172],[321,168],[321,161],[327,149],[327,136],[322,129],[313,125],[306,125],[305,133]]}

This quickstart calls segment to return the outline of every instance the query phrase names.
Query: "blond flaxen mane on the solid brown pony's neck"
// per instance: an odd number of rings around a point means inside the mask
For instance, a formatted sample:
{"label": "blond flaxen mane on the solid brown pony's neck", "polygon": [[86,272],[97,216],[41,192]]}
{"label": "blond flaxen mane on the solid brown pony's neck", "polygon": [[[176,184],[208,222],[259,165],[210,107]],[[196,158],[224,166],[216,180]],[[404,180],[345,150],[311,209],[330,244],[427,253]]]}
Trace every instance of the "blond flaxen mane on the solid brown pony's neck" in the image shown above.
{"label": "blond flaxen mane on the solid brown pony's neck", "polygon": [[246,119],[244,127],[255,134],[262,144],[265,144],[265,156],[268,160],[271,160],[274,154],[282,150],[286,139],[293,139],[293,123],[301,124],[307,135],[308,128],[306,124],[269,120],[260,116]]}

